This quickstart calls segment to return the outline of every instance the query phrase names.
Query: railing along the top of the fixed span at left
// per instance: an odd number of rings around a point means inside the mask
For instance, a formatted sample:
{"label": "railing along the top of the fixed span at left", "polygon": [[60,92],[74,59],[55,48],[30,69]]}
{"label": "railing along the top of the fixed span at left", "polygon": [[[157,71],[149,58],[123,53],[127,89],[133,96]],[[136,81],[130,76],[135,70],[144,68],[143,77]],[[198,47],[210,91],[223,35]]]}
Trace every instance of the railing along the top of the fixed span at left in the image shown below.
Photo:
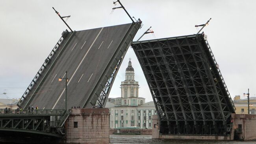
{"label": "railing along the top of the fixed span at left", "polygon": [[24,109],[22,111],[17,109],[0,109],[0,116],[3,115],[63,115],[65,109]]}

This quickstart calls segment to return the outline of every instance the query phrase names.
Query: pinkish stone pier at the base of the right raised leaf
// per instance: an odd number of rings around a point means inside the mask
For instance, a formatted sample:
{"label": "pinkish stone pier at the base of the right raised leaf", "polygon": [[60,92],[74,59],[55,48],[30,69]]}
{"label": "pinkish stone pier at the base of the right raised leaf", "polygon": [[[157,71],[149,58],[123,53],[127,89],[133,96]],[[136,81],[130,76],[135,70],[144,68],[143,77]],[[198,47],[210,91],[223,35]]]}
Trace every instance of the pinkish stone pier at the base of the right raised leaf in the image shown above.
{"label": "pinkish stone pier at the base of the right raised leaf", "polygon": [[161,134],[157,115],[152,117],[152,139],[182,140],[256,140],[256,115],[232,113],[230,135],[169,135]]}

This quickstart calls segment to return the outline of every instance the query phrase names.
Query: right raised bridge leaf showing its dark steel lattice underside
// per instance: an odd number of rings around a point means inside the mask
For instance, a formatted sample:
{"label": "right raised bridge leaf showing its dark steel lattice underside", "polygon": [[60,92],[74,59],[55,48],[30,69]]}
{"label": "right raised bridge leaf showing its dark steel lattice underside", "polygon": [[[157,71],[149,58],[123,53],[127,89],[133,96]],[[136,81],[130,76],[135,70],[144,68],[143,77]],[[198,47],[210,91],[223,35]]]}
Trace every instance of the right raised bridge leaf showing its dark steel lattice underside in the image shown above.
{"label": "right raised bridge leaf showing its dark steel lattice underside", "polygon": [[235,107],[204,34],[133,42],[160,133],[226,135]]}

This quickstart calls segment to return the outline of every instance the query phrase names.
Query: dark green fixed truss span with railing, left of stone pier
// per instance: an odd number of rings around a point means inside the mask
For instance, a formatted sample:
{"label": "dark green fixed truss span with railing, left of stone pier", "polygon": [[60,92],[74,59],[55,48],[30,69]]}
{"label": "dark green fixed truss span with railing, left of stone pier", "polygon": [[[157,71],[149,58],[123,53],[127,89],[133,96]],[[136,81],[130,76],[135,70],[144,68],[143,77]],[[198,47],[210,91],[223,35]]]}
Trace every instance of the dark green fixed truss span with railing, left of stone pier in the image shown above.
{"label": "dark green fixed truss span with railing, left of stone pier", "polygon": [[65,135],[65,120],[69,117],[70,110],[44,109],[0,111],[0,133],[2,131],[16,131],[21,133],[34,133],[51,137]]}

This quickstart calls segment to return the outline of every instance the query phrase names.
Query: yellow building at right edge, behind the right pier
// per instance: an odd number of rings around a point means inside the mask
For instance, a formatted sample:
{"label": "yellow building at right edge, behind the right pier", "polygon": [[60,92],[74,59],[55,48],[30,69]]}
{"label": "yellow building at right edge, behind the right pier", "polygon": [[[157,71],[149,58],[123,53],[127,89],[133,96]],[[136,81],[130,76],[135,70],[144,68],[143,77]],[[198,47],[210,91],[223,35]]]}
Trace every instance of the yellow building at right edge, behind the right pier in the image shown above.
{"label": "yellow building at right edge, behind the right pier", "polygon": [[[250,97],[250,114],[256,114],[256,97]],[[234,98],[234,104],[236,106],[237,114],[248,114],[248,99],[247,97],[240,98],[240,95],[236,95]]]}

